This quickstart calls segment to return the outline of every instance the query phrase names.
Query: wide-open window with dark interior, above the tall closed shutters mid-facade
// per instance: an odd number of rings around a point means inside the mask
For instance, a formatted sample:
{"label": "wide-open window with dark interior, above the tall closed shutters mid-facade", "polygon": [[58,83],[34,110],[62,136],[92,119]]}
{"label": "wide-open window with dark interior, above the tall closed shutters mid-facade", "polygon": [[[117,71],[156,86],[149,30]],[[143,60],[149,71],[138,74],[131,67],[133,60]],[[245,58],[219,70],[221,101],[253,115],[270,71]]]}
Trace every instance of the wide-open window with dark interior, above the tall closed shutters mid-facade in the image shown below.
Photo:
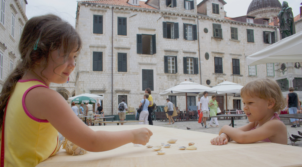
{"label": "wide-open window with dark interior, above the tall closed shutters mid-facade", "polygon": [[136,34],[137,35],[137,53],[153,55],[156,53],[156,34]]}

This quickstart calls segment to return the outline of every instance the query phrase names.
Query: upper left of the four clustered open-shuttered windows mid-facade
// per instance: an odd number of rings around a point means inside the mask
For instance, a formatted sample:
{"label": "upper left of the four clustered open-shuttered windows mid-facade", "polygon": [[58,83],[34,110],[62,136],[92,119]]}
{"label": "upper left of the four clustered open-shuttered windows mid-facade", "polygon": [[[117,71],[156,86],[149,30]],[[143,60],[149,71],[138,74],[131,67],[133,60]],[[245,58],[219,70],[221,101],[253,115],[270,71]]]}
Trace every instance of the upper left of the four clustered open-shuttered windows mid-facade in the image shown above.
{"label": "upper left of the four clustered open-shuttered windows mid-facade", "polygon": [[169,38],[169,39],[179,38],[178,23],[162,22],[162,32],[164,38]]}

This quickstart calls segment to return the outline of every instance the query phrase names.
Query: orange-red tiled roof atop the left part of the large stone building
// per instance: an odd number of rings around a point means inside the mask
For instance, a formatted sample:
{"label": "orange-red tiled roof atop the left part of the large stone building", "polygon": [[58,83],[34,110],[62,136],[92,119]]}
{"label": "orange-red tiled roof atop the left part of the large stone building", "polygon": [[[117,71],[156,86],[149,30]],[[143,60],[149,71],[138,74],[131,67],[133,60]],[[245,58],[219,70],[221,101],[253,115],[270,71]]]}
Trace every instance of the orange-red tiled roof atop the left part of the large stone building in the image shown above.
{"label": "orange-red tiled roof atop the left part of the large stone building", "polygon": [[156,9],[152,6],[145,4],[145,2],[140,1],[140,5],[131,5],[128,3],[128,0],[100,0],[100,1],[79,1],[79,2],[89,2],[89,3],[97,3],[97,4],[105,4],[105,5],[117,5],[117,6],[129,6],[134,8],[145,8],[145,9]]}

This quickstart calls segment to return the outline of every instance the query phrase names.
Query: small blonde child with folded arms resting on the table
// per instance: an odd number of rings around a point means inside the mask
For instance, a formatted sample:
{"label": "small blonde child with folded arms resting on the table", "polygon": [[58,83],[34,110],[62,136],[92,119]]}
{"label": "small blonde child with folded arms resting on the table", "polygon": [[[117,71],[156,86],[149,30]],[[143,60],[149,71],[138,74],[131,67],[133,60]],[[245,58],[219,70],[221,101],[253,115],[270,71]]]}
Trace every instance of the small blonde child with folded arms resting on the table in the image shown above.
{"label": "small blonde child with folded arms resting on the table", "polygon": [[240,94],[250,123],[239,128],[224,125],[211,143],[222,145],[234,140],[237,143],[287,144],[286,126],[276,113],[286,106],[278,83],[271,79],[257,79],[247,83]]}

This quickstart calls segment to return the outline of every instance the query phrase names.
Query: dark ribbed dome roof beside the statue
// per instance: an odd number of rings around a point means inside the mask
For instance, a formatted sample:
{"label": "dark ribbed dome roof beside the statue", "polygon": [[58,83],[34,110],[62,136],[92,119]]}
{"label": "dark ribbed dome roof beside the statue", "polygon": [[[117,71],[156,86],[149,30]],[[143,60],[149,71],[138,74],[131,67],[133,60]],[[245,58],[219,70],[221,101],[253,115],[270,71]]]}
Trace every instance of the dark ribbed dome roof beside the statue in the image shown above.
{"label": "dark ribbed dome roof beside the statue", "polygon": [[246,14],[248,15],[250,12],[255,11],[257,9],[274,7],[282,9],[282,5],[278,0],[253,0],[249,4],[249,8]]}

